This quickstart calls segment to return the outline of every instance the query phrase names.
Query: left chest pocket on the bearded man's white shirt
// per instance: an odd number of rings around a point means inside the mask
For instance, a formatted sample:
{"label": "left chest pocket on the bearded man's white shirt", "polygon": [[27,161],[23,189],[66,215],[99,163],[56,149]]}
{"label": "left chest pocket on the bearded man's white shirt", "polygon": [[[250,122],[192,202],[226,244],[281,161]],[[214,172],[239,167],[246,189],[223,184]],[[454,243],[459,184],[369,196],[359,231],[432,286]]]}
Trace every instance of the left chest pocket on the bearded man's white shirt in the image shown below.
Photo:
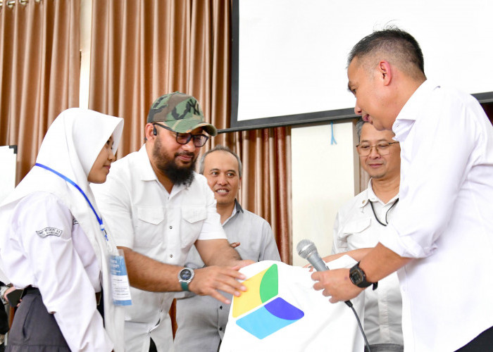
{"label": "left chest pocket on the bearded man's white shirt", "polygon": [[163,240],[164,208],[139,206],[136,213],[135,246],[152,247],[159,244]]}

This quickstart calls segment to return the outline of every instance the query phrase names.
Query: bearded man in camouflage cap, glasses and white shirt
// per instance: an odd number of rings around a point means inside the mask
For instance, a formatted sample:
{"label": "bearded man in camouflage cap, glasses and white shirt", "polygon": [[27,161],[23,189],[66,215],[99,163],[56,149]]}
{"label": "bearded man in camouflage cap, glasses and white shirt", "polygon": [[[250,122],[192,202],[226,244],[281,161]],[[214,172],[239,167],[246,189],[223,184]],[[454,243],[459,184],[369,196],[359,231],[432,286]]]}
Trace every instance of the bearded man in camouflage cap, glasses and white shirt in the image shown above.
{"label": "bearded man in camouflage cap, glasses and white shirt", "polygon": [[[173,351],[168,311],[174,291],[192,291],[230,303],[239,296],[237,270],[248,263],[232,249],[196,158],[216,127],[204,121],[193,96],[175,92],[151,106],[142,148],[113,163],[104,187],[94,187],[99,209],[132,285],[126,311],[127,351]],[[185,268],[195,244],[206,268]]]}

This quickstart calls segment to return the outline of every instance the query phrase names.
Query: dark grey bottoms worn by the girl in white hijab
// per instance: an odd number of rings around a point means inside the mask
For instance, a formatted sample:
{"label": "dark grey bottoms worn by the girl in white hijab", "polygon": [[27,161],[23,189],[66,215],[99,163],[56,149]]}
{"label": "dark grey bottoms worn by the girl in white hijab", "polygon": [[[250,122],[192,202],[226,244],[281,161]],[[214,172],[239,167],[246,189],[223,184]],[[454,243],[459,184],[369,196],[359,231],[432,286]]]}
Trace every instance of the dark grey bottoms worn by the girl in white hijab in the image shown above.
{"label": "dark grey bottoms worn by the girl in white hijab", "polygon": [[43,304],[39,291],[23,297],[8,332],[7,352],[70,352],[68,344]]}

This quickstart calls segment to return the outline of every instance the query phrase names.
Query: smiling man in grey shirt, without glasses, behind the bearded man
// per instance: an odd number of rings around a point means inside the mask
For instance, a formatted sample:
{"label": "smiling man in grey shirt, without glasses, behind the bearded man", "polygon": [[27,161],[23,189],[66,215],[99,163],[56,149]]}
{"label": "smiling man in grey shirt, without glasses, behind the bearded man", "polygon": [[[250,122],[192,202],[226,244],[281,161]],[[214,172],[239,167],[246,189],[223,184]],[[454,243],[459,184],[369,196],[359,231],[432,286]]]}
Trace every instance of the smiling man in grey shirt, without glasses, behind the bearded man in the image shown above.
{"label": "smiling man in grey shirt, without glasses, behind the bearded man", "polygon": [[[236,153],[218,145],[201,157],[199,172],[214,192],[227,239],[244,259],[281,260],[269,223],[244,210],[236,197],[242,180],[242,162]],[[187,267],[202,268],[204,262],[194,247]],[[177,295],[182,295],[178,293]],[[177,296],[178,298],[178,296]],[[228,295],[228,298],[232,298]],[[208,296],[185,293],[176,301],[176,352],[216,352],[225,333],[230,305]]]}

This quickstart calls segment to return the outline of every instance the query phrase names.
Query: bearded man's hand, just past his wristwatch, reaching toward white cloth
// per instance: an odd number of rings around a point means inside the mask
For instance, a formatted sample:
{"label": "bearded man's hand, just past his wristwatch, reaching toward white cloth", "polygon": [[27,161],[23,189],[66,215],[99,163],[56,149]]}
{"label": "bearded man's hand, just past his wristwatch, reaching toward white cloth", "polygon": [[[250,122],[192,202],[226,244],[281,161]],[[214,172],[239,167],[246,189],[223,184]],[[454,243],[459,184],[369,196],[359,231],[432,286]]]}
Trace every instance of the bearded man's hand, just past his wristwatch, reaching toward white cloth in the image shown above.
{"label": "bearded man's hand, just past his wristwatch, reaching toward white cloth", "polygon": [[[251,260],[242,260],[242,262],[246,261]],[[194,294],[211,296],[225,304],[230,304],[231,301],[218,291],[225,291],[235,296],[240,296],[242,291],[246,291],[246,287],[238,281],[239,279],[246,279],[245,275],[237,271],[239,268],[238,265],[234,268],[208,266],[196,269],[194,279],[188,285],[189,290]]]}

